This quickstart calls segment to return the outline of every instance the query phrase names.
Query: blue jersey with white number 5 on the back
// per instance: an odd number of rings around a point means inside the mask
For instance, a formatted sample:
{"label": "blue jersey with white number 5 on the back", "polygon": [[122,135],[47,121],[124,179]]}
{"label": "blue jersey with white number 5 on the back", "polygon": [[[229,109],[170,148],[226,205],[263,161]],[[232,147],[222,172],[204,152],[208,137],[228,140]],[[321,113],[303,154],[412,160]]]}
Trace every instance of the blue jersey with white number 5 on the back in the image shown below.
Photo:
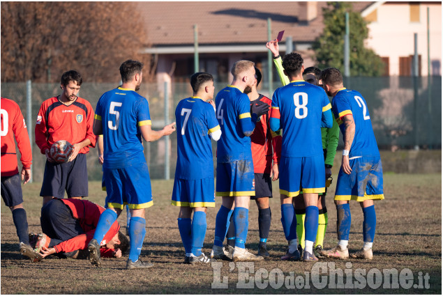
{"label": "blue jersey with white number 5 on the back", "polygon": [[121,169],[146,162],[139,126],[151,125],[147,99],[126,88],[104,93],[96,107],[102,121],[105,169]]}

